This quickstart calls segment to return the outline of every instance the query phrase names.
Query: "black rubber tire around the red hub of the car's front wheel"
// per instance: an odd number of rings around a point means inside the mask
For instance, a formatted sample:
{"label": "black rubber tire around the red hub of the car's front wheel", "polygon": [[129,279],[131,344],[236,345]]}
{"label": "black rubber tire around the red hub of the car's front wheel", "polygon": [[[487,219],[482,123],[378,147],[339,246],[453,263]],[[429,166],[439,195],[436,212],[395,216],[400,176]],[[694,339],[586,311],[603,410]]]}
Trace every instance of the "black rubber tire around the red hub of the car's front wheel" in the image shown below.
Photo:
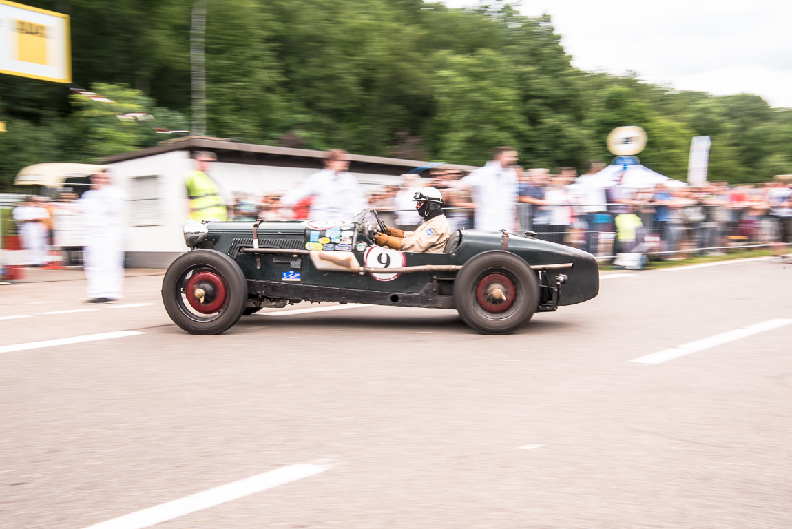
{"label": "black rubber tire around the red hub of the car's front wheel", "polygon": [[[212,314],[200,314],[190,308],[188,301],[188,278],[201,272],[219,278],[225,289],[221,306]],[[245,310],[247,281],[239,266],[225,253],[196,249],[181,255],[168,267],[162,280],[162,303],[170,319],[188,333],[223,333],[238,322]]]}

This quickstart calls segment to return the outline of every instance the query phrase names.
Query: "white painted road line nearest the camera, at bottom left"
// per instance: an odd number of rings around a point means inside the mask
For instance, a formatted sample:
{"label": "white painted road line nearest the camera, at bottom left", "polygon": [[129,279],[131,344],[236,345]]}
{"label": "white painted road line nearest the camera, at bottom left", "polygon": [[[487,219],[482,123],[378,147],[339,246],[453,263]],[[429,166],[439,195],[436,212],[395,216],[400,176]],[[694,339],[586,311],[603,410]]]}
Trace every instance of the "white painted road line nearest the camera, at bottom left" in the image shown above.
{"label": "white painted road line nearest the camera, at bottom left", "polygon": [[109,519],[106,522],[96,523],[85,527],[85,529],[143,529],[143,527],[151,527],[179,516],[185,516],[185,514],[190,514],[191,512],[202,511],[215,505],[224,504],[227,501],[238,500],[250,494],[260,493],[262,490],[272,489],[278,485],[285,485],[291,481],[308,478],[314,474],[329,470],[329,468],[329,466],[310,463],[283,466],[264,474],[257,474],[251,478],[205,490],[203,493],[192,494],[192,496],[179,500],[169,501],[142,511]]}

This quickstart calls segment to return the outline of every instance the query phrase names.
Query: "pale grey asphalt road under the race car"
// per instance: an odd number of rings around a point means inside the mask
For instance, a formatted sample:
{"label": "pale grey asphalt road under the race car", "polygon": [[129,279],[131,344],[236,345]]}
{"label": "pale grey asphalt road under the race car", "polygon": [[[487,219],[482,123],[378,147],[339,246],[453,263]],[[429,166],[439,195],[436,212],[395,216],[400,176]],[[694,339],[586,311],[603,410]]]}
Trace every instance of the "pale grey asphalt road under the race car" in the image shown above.
{"label": "pale grey asphalt road under the race car", "polygon": [[161,281],[98,310],[80,280],[0,287],[0,527],[792,527],[792,265],[611,273],[511,336],[267,315],[303,303],[196,337]]}

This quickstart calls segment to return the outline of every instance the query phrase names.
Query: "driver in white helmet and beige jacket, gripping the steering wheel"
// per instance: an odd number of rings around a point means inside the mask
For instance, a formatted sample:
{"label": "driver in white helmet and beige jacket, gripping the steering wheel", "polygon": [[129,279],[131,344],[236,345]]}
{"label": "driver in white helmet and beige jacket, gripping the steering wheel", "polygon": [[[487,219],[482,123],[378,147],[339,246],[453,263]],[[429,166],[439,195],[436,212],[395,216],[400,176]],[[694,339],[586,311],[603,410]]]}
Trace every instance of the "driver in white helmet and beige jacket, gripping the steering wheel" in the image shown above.
{"label": "driver in white helmet and beige jacket, gripping the steering wheel", "polygon": [[443,253],[446,242],[451,238],[448,221],[443,214],[443,195],[436,188],[423,188],[413,195],[418,214],[424,223],[415,231],[402,231],[385,226],[386,234],[375,234],[380,246],[388,246],[404,252]]}

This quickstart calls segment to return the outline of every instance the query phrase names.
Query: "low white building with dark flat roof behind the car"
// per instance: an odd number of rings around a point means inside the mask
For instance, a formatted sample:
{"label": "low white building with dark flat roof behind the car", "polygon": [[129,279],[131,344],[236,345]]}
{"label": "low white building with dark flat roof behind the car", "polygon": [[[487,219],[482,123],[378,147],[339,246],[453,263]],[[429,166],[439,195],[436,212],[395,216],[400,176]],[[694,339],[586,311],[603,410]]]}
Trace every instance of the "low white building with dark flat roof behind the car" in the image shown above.
{"label": "low white building with dark flat roof behind the car", "polygon": [[[112,177],[128,193],[127,257],[129,265],[164,268],[187,251],[181,227],[189,216],[185,175],[195,170],[191,153],[211,150],[218,163],[210,176],[223,189],[227,204],[234,193],[249,196],[283,193],[322,166],[324,151],[235,143],[196,136],[169,140],[155,147],[105,158]],[[427,162],[352,154],[350,172],[367,192],[398,185],[399,175]],[[440,168],[470,166],[444,164]]]}

